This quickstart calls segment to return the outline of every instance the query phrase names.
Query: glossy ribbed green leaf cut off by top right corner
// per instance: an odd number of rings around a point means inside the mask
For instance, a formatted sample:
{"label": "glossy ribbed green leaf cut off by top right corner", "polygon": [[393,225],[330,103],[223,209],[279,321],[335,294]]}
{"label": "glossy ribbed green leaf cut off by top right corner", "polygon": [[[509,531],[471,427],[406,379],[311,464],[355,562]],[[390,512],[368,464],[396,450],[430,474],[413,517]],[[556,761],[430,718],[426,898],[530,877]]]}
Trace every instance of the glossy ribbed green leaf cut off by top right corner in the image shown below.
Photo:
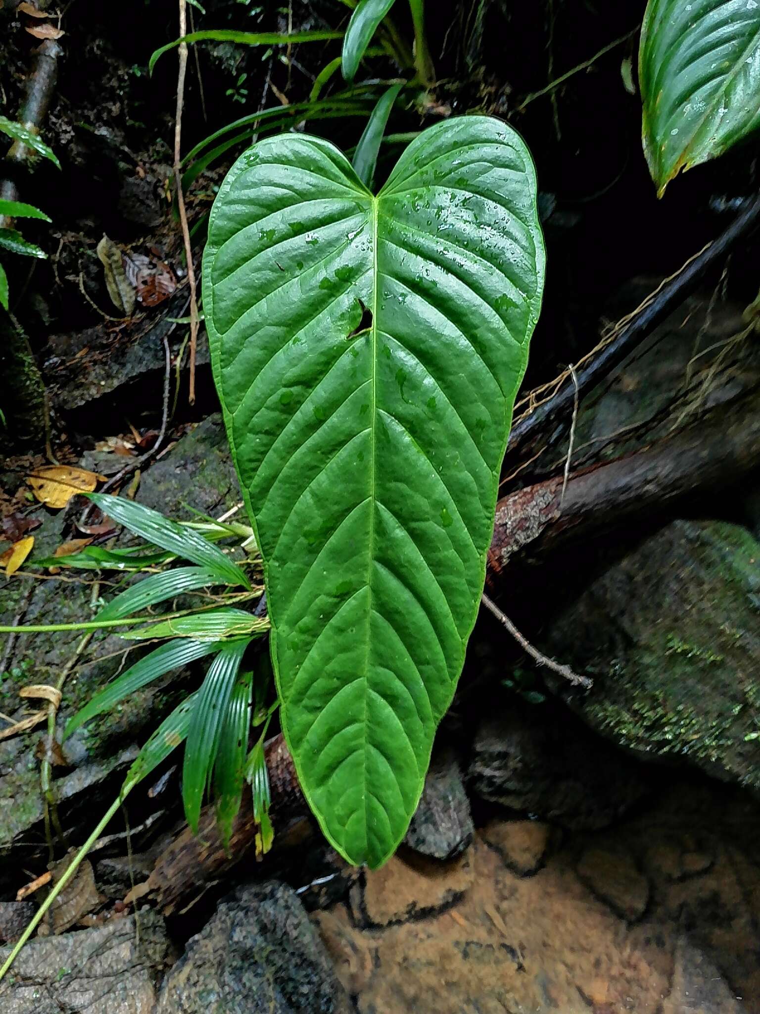
{"label": "glossy ribbed green leaf cut off by top right corner", "polygon": [[662,196],[681,169],[760,126],[760,3],[650,0],[639,79],[643,148]]}

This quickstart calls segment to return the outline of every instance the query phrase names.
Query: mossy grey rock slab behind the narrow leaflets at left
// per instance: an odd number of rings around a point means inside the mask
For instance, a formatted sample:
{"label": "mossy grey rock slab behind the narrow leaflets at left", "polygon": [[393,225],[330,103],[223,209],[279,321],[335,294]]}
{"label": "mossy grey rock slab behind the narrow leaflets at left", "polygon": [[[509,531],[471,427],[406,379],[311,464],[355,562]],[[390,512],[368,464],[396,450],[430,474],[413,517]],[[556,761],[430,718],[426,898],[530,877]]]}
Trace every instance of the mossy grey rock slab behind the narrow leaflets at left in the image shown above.
{"label": "mossy grey rock slab behind the narrow leaflets at left", "polygon": [[[239,490],[220,417],[206,420],[148,469],[137,499],[177,518],[189,517],[191,507],[209,514],[221,514],[231,507],[239,499]],[[64,540],[67,514],[40,508],[43,526],[34,531],[35,556],[52,555]],[[93,571],[64,571],[60,577],[65,580],[0,577],[0,624],[13,622],[29,587],[31,595],[23,611],[23,624],[90,620],[95,576]],[[112,572],[103,576],[112,577]],[[81,638],[78,631],[19,635],[6,671],[0,673],[0,712],[15,719],[27,714],[31,709],[25,705],[29,702],[21,701],[18,691],[29,683],[55,683]],[[4,646],[2,637],[0,654]],[[92,638],[81,665],[66,681],[59,711],[59,736],[72,714],[123,665],[137,659],[137,651],[125,659],[127,648],[134,648],[134,643],[115,634],[98,633]],[[197,679],[198,673],[171,673],[131,695],[121,707],[98,716],[66,741],[64,754],[70,767],[54,769],[65,827],[75,827],[78,836],[82,821],[91,821],[93,814],[104,808],[139,746]],[[31,704],[33,707],[34,702]],[[34,755],[44,730],[45,726],[40,725],[0,741],[0,886],[12,865],[9,857],[20,860],[30,848],[33,851],[33,843],[45,843],[40,762]]]}

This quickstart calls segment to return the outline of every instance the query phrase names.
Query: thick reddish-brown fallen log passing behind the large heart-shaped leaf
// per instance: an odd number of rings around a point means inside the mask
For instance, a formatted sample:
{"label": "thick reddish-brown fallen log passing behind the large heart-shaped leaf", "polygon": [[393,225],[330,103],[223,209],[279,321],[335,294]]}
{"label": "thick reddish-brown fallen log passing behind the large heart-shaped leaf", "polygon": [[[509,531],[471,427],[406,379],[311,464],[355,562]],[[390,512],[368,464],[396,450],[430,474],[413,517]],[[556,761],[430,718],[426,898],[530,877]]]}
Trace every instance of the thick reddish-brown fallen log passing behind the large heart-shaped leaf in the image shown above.
{"label": "thick reddish-brown fallen log passing behind the large heart-shaped leaf", "polygon": [[[508,561],[529,545],[533,553],[543,554],[624,518],[662,511],[679,499],[727,486],[758,466],[760,391],[754,390],[710,410],[673,436],[571,475],[563,497],[563,478],[558,476],[500,500],[486,580],[498,587]],[[307,816],[308,807],[282,736],[267,744],[267,764],[271,817],[278,832]],[[128,899],[150,896],[167,915],[185,910],[249,853],[256,830],[248,795],[225,850],[214,809],[206,807],[198,837],[181,829]]]}

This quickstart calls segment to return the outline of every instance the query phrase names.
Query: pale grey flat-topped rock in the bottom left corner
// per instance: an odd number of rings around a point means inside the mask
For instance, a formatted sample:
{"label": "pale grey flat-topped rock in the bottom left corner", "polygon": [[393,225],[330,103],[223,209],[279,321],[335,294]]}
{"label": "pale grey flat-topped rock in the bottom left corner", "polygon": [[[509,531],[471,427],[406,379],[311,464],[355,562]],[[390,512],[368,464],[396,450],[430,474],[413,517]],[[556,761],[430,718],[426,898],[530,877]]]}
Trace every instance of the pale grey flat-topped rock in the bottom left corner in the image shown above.
{"label": "pale grey flat-topped rock in the bottom left corner", "polygon": [[[0,962],[9,948],[0,950]],[[3,1014],[152,1014],[171,948],[163,920],[141,912],[31,940],[0,983]]]}

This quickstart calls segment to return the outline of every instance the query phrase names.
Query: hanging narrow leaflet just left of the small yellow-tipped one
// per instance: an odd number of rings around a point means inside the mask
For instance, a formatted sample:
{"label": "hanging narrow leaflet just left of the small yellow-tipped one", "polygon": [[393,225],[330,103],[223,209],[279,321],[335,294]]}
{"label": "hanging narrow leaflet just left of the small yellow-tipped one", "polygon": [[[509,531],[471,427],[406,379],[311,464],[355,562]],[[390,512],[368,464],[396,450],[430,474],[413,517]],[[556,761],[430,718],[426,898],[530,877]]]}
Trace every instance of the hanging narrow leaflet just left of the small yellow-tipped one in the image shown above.
{"label": "hanging narrow leaflet just left of the small yellow-tipped one", "polygon": [[214,765],[217,824],[225,848],[229,844],[232,824],[242,800],[252,687],[252,671],[246,669],[240,672],[227,705]]}

